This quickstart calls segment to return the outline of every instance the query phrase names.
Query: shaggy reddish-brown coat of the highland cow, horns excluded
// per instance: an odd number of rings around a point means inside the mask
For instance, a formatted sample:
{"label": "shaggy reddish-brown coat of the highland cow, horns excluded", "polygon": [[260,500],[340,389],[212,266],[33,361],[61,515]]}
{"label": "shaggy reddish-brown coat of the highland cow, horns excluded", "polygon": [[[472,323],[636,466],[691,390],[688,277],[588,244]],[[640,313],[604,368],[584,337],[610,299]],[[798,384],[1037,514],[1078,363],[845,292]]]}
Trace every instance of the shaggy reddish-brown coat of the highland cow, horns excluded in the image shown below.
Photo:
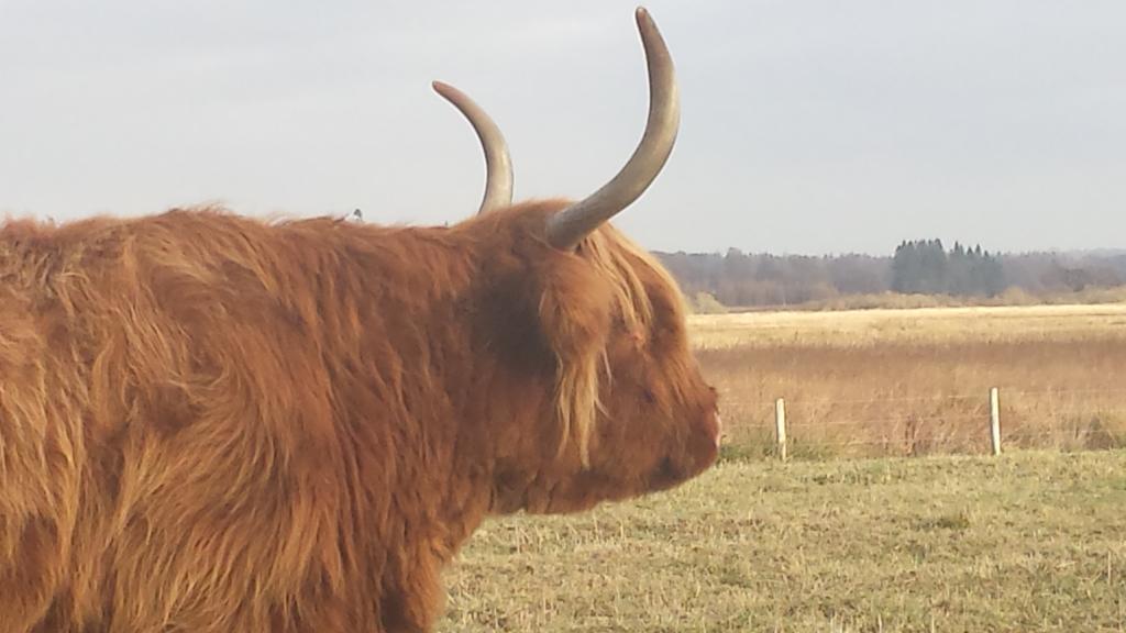
{"label": "shaggy reddish-brown coat of the highland cow, horns excluded", "polygon": [[676,285],[536,202],[0,228],[0,631],[428,631],[490,514],[716,456]]}

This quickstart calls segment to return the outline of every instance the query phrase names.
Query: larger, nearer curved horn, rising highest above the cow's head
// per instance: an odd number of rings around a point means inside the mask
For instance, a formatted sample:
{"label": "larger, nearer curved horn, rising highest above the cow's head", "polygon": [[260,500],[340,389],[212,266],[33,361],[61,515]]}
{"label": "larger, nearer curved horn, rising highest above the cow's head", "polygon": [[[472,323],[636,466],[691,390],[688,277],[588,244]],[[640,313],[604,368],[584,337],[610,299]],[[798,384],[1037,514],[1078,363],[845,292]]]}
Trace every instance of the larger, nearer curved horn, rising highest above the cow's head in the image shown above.
{"label": "larger, nearer curved horn, rising highest above the cow's head", "polygon": [[587,234],[637,199],[661,172],[677,140],[680,102],[672,57],[649,11],[638,7],[635,17],[649,65],[645,134],[614,179],[548,219],[547,241],[558,249],[573,249]]}

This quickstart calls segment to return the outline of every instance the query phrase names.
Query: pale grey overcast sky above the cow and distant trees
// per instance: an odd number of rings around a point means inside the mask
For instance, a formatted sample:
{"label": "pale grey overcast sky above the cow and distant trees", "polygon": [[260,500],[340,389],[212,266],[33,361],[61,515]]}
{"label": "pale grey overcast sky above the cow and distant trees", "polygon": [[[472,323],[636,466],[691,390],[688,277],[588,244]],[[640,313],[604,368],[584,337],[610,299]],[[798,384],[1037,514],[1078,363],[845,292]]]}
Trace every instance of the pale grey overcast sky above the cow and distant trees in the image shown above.
{"label": "pale grey overcast sky above the cow and distant trees", "polygon": [[[654,0],[680,81],[664,172],[616,221],[661,250],[1126,247],[1126,2]],[[633,2],[0,0],[0,213],[222,202],[454,223],[498,121],[516,196],[622,166]]]}

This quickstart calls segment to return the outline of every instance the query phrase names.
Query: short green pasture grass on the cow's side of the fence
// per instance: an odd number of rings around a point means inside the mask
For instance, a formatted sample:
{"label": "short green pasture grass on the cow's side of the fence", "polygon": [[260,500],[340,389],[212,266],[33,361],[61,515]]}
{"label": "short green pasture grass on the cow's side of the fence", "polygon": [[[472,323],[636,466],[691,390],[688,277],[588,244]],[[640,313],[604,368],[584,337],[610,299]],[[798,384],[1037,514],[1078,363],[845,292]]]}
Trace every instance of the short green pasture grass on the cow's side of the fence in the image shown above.
{"label": "short green pasture grass on the cow's side of the fence", "polygon": [[1126,452],[729,460],[446,580],[440,631],[1126,631]]}

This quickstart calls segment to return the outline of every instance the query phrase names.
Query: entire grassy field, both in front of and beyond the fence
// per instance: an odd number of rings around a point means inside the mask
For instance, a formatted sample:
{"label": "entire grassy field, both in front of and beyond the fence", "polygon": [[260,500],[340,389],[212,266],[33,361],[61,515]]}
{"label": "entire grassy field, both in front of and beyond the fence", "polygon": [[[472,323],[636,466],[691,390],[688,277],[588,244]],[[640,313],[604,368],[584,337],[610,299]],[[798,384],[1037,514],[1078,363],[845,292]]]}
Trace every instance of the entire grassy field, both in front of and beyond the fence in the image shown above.
{"label": "entire grassy field, both in front of and beyond the fence", "polygon": [[[691,327],[721,464],[671,494],[488,523],[440,630],[1126,631],[1126,305]],[[982,455],[991,386],[1000,457]]]}

